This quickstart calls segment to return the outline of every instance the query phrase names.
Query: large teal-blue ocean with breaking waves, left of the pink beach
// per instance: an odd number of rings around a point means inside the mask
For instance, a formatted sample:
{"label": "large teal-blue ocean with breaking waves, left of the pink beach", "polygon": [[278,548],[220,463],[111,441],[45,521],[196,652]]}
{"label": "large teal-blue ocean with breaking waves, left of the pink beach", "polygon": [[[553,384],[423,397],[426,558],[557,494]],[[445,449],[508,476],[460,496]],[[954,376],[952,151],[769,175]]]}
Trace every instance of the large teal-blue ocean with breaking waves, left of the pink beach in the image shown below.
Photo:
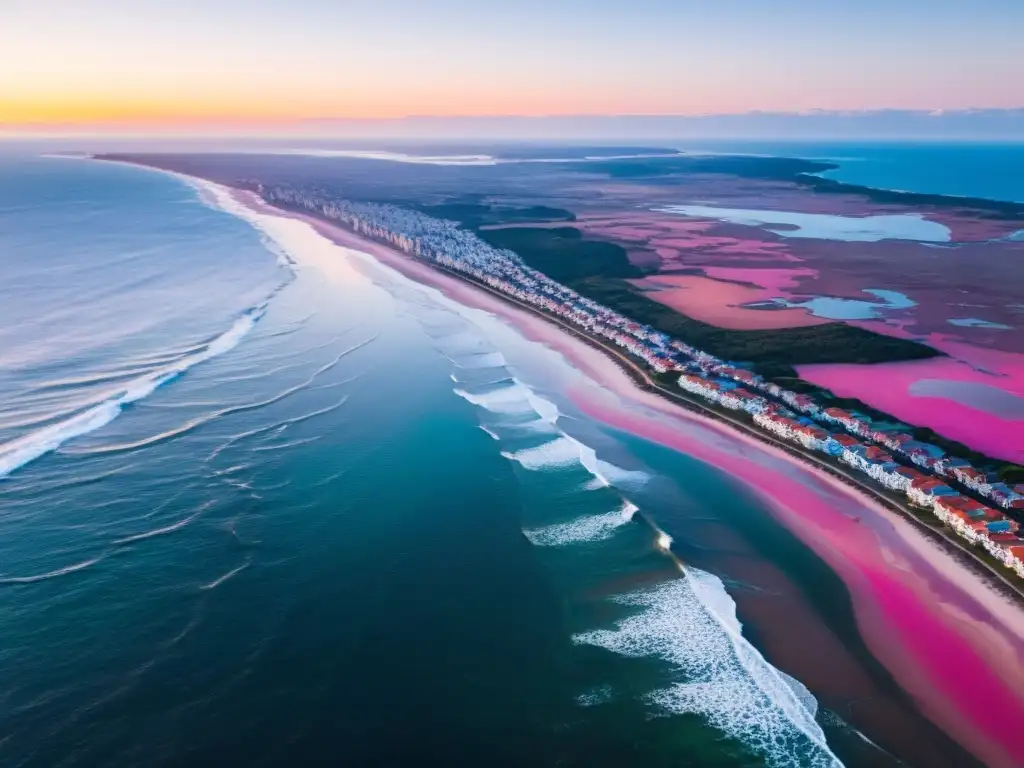
{"label": "large teal-blue ocean with breaking waves, left of the pink beach", "polygon": [[913,709],[839,580],[555,352],[178,178],[0,162],[4,765],[899,764],[767,660],[809,606]]}

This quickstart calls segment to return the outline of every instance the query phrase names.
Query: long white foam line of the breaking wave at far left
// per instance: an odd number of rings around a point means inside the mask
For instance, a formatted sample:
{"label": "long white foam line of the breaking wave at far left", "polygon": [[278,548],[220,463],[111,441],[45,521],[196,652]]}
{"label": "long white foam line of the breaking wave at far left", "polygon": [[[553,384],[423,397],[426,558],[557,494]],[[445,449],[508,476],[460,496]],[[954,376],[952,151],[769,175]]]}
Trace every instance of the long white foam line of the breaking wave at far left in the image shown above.
{"label": "long white foam line of the breaking wave at far left", "polygon": [[0,444],[0,478],[6,477],[31,461],[55,451],[74,437],[106,426],[121,414],[125,406],[130,406],[153,394],[159,387],[177,378],[194,366],[232,349],[253,329],[265,310],[266,304],[253,307],[239,317],[230,329],[208,342],[200,351],[185,355],[175,362],[162,366],[145,376],[129,381],[82,413]]}

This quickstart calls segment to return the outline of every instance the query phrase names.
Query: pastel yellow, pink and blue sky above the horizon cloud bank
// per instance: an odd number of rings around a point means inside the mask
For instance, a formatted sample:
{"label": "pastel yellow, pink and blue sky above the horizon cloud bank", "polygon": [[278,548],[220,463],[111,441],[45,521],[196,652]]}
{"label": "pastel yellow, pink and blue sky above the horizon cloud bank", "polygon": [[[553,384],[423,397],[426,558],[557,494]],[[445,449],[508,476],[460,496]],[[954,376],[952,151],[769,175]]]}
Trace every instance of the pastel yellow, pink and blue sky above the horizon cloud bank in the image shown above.
{"label": "pastel yellow, pink and blue sky above the horizon cloud bank", "polygon": [[0,127],[1024,106],[1024,0],[0,0]]}

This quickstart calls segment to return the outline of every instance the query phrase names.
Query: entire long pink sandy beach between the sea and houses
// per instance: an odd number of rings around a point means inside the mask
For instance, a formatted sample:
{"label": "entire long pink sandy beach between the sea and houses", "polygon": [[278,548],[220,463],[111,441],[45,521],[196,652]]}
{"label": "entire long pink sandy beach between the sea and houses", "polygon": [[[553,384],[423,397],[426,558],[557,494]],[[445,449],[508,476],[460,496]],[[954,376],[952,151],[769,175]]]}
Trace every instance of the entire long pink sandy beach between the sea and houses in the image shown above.
{"label": "entire long pink sandy beach between the sea and houses", "polygon": [[329,222],[232,194],[508,322],[600,383],[569,393],[582,411],[728,471],[841,577],[871,652],[933,722],[989,765],[1024,763],[1015,736],[1024,722],[1024,613],[912,524],[784,451],[640,389],[611,357],[532,312]]}

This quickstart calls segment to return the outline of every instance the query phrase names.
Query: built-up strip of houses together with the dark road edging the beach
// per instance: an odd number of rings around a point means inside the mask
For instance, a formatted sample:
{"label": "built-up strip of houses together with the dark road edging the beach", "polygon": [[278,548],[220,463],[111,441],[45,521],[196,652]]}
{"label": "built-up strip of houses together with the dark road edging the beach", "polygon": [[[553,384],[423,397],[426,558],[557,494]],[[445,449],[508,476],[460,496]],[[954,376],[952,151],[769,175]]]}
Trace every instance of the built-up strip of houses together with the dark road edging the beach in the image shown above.
{"label": "built-up strip of houses together with the dark road edging the beach", "polygon": [[955,552],[975,557],[1024,595],[1024,539],[1011,516],[1024,510],[1024,485],[992,481],[967,460],[944,456],[898,428],[825,407],[811,393],[787,389],[741,362],[628,317],[457,222],[289,185],[255,182],[250,191],[271,206],[340,225],[557,322],[614,355],[643,386],[840,475],[939,532]]}

